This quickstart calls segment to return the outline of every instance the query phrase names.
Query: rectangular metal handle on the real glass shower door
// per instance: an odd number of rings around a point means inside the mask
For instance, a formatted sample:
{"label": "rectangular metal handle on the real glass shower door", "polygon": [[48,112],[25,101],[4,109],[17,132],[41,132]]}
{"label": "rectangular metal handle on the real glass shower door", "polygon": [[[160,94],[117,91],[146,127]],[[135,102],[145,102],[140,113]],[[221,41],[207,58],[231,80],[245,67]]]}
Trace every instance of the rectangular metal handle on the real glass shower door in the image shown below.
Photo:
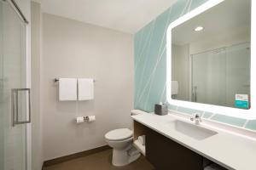
{"label": "rectangular metal handle on the real glass shower door", "polygon": [[[19,102],[20,99],[20,93],[21,92],[26,92],[26,99],[25,100],[21,100],[21,102]],[[27,115],[28,111],[28,119],[26,120],[20,120],[20,105],[19,103],[21,103],[22,106],[23,102],[26,103],[25,107],[25,115]],[[12,121],[13,121],[13,126],[15,127],[15,125],[17,124],[25,124],[25,123],[30,123],[31,122],[31,93],[30,93],[30,88],[12,88]]]}

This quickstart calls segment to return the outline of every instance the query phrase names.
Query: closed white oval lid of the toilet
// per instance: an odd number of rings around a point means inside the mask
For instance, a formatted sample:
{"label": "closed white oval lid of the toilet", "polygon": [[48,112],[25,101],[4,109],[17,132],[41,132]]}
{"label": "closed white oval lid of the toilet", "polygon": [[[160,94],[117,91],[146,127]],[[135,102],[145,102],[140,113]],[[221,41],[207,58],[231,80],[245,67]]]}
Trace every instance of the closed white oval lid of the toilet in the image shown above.
{"label": "closed white oval lid of the toilet", "polygon": [[124,140],[131,138],[132,134],[129,128],[119,128],[106,133],[105,138],[108,140]]}

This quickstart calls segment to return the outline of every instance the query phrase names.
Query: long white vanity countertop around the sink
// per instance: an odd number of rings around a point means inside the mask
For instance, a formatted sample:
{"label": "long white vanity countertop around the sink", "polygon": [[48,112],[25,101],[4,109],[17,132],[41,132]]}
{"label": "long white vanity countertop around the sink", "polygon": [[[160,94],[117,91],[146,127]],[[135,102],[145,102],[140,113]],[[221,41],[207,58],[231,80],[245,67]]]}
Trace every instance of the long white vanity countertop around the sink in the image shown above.
{"label": "long white vanity countertop around the sink", "polygon": [[[139,111],[140,114],[131,116],[135,121],[150,127],[169,139],[195,151],[209,160],[228,169],[254,170],[256,169],[256,139],[247,138],[218,127],[211,127],[201,123],[201,127],[211,129],[217,134],[202,140],[193,139],[174,128],[166,127],[166,123],[174,120],[189,122],[178,116],[158,116],[152,113]],[[171,154],[171,153],[170,153]]]}

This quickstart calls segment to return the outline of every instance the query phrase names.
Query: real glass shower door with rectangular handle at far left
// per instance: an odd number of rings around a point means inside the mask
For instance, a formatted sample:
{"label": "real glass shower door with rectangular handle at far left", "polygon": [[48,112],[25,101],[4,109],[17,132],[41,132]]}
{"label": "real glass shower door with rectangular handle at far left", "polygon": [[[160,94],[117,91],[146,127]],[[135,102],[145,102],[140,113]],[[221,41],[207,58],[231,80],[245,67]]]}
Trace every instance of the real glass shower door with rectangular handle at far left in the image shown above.
{"label": "real glass shower door with rectangular handle at far left", "polygon": [[26,23],[14,4],[0,0],[0,170],[27,169]]}

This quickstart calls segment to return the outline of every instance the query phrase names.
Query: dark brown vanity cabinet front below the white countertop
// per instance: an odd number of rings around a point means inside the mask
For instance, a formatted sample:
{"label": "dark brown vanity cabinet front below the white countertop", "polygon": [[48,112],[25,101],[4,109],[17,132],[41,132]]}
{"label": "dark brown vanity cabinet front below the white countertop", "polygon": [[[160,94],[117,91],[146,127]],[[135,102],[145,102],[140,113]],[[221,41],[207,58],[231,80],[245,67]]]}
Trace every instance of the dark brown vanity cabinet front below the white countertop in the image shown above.
{"label": "dark brown vanity cabinet front below the white countertop", "polygon": [[202,156],[138,122],[134,125],[135,131],[140,129],[146,135],[146,158],[157,170],[203,169]]}

